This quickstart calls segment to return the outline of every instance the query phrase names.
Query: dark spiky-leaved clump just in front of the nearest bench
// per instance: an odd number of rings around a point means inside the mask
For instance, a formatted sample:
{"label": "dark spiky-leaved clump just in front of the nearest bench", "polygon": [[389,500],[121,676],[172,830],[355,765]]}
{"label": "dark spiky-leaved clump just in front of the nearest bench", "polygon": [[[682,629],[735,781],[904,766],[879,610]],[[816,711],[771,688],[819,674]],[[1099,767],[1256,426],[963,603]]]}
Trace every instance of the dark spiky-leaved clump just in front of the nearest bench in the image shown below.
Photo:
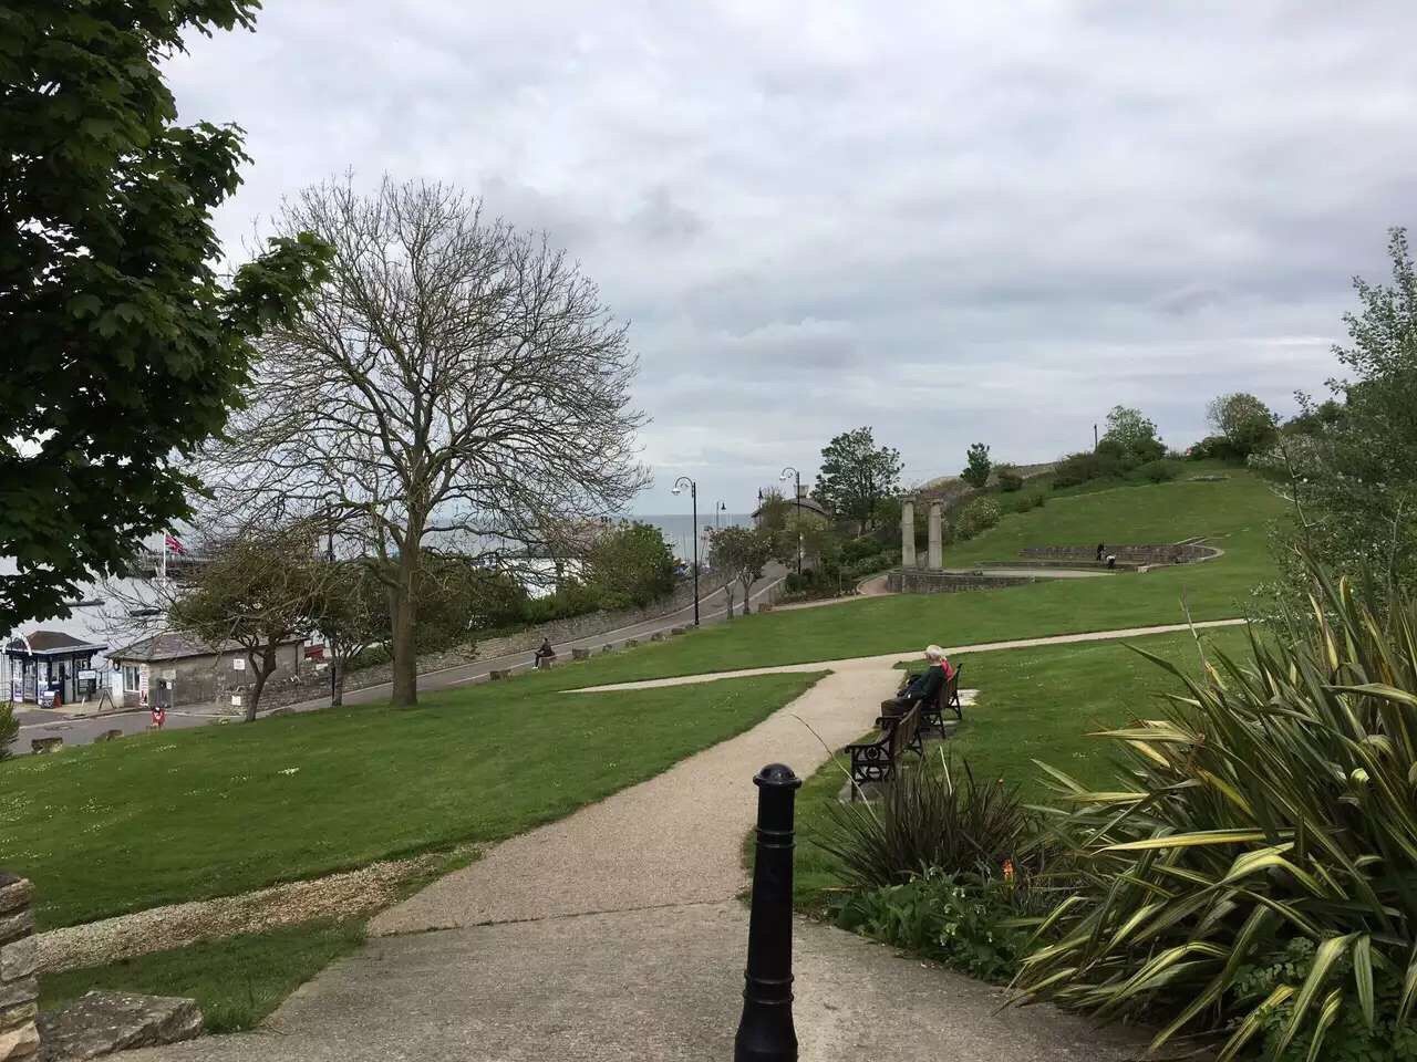
{"label": "dark spiky-leaved clump just in front of the nearest bench", "polygon": [[1002,782],[976,782],[939,753],[903,772],[874,803],[832,804],[829,826],[813,844],[836,857],[854,891],[900,885],[927,869],[999,872],[1005,862],[1030,869],[1037,818]]}

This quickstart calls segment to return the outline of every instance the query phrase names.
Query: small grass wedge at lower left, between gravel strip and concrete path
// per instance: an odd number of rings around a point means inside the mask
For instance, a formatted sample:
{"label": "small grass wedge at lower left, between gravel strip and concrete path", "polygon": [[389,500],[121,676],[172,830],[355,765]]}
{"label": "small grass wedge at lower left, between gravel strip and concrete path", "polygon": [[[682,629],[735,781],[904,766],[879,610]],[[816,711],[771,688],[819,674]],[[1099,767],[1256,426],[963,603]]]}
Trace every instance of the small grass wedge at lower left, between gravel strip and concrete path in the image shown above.
{"label": "small grass wedge at lower left, between gravel strip and concrete path", "polygon": [[106,966],[40,977],[40,1007],[50,1010],[91,988],[187,995],[201,1007],[207,1032],[249,1029],[326,964],[364,943],[363,922],[307,922],[242,933]]}

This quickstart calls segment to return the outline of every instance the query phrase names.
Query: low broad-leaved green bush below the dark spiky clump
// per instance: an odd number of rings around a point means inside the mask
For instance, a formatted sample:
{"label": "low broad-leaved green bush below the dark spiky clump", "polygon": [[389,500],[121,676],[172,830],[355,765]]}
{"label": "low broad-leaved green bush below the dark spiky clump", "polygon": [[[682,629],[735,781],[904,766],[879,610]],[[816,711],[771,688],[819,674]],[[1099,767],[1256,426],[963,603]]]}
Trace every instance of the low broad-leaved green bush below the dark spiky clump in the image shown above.
{"label": "low broad-leaved green bush below the dark spiky clump", "polygon": [[1020,925],[1016,879],[927,871],[904,885],[849,896],[837,925],[1002,984],[1032,933]]}

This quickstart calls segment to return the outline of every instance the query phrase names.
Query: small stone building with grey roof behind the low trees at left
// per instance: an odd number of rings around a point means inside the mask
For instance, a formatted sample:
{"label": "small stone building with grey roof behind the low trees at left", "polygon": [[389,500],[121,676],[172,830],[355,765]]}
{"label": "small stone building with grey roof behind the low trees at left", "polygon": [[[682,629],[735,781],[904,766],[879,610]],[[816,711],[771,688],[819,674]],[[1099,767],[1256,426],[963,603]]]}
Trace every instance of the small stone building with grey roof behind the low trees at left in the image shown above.
{"label": "small stone building with grey roof behind the low trees at left", "polygon": [[[276,647],[276,668],[266,680],[268,690],[300,677],[302,643],[303,639],[293,637]],[[115,700],[122,690],[122,702],[129,708],[215,702],[241,707],[247,687],[255,680],[244,647],[235,641],[213,647],[188,634],[156,634],[115,649],[108,658],[120,674]]]}

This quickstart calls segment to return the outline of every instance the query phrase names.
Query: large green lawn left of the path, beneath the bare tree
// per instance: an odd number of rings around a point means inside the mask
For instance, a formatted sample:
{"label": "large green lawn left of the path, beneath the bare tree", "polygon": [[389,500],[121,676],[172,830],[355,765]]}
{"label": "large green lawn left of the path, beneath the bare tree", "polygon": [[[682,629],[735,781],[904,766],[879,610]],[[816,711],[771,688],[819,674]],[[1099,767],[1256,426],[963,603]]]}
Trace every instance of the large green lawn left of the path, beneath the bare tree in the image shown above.
{"label": "large green lawn left of the path, beneath the bare tree", "polygon": [[565,675],[7,762],[0,862],[34,881],[48,929],[497,841],[659,775],[815,681],[567,695]]}

